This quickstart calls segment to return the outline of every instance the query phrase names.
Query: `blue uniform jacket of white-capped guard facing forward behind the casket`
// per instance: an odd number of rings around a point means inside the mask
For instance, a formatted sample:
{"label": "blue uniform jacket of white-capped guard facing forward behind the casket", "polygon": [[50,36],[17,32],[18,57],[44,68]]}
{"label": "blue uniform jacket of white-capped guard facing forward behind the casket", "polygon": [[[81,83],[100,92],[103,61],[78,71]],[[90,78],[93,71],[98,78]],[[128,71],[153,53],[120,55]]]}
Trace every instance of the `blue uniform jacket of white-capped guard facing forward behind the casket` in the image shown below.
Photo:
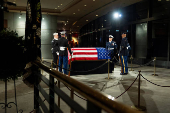
{"label": "blue uniform jacket of white-capped guard facing forward behind the casket", "polygon": [[117,44],[114,41],[106,42],[106,50],[109,52],[109,56],[114,56],[114,51],[117,49]]}

